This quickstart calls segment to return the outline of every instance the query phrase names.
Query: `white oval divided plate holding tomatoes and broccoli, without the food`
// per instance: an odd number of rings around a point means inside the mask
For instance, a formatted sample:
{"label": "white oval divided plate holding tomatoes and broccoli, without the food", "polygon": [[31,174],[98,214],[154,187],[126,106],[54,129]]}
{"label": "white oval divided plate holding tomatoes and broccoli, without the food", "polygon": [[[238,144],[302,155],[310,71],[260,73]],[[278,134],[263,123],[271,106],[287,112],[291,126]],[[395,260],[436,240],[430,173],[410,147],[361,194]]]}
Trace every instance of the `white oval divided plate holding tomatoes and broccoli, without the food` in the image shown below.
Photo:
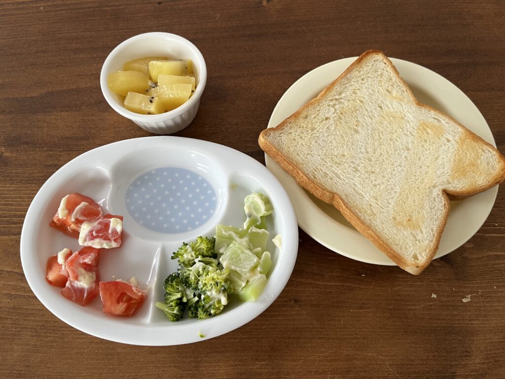
{"label": "white oval divided plate holding tomatoes and broccoli, without the food", "polygon": [[[274,213],[270,241],[272,268],[256,302],[230,299],[224,311],[205,320],[169,321],[155,307],[163,301],[165,278],[177,269],[172,252],[198,235],[213,236],[219,223],[241,225],[243,199],[253,191],[267,195]],[[81,307],[45,281],[47,258],[77,240],[49,227],[60,200],[78,192],[97,201],[104,213],[124,216],[123,244],[102,250],[100,280],[136,276],[148,297],[133,317],[102,312],[99,297]],[[21,262],[33,293],[66,323],[107,340],[135,345],[177,345],[233,330],[263,312],[281,293],[294,267],[298,228],[293,207],[279,181],[255,159],[225,146],[173,137],[120,141],[80,155],[51,176],[35,196],[21,233]],[[199,333],[205,335],[201,338]]]}

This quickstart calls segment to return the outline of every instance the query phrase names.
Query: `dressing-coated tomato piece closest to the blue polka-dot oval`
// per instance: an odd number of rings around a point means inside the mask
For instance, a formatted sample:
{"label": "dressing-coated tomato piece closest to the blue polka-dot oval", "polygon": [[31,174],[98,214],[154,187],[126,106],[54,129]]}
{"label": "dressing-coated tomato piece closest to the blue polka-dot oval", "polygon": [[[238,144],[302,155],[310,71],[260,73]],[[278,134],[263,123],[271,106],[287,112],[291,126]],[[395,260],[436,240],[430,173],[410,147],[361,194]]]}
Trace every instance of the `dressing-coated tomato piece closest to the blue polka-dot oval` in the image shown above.
{"label": "dressing-coated tomato piece closest to the blue polka-dot oval", "polygon": [[106,214],[94,224],[84,223],[79,234],[79,245],[97,249],[112,249],[121,246],[123,216]]}

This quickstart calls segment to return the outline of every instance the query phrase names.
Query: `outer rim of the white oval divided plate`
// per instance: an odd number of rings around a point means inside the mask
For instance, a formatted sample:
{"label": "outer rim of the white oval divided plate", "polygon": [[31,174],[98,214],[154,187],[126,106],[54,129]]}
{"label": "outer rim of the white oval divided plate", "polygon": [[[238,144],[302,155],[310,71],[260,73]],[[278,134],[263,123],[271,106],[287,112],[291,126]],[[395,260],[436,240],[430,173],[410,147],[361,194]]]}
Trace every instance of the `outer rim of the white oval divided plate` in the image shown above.
{"label": "outer rim of the white oval divided plate", "polygon": [[[286,249],[286,251],[282,256],[285,258],[281,261],[280,260],[281,255],[280,253],[278,253],[279,258],[277,260],[277,265],[280,271],[278,277],[275,277],[275,280],[269,280],[267,282],[267,287],[265,289],[266,290],[269,289],[269,292],[262,293],[261,298],[258,299],[258,301],[256,302],[248,302],[240,304],[239,306],[232,309],[229,313],[223,313],[219,316],[211,317],[209,319],[198,320],[195,322],[184,323],[180,325],[171,324],[167,320],[166,325],[165,324],[149,325],[149,324],[132,324],[128,322],[121,322],[119,321],[121,319],[114,318],[112,316],[109,317],[107,315],[104,318],[103,314],[96,315],[91,312],[88,313],[84,318],[82,318],[81,316],[85,314],[81,313],[77,313],[77,316],[75,317],[69,316],[69,314],[72,315],[73,313],[72,309],[80,309],[80,306],[69,302],[69,307],[59,307],[60,304],[63,304],[60,302],[59,298],[54,297],[52,295],[46,295],[44,294],[44,290],[39,289],[37,287],[37,285],[41,281],[43,281],[48,287],[51,287],[48,283],[46,283],[45,275],[43,275],[42,278],[38,277],[41,270],[45,272],[45,267],[40,268],[38,267],[37,264],[31,264],[30,257],[33,256],[33,254],[35,253],[27,251],[28,247],[31,244],[31,239],[34,239],[35,233],[37,231],[36,227],[32,227],[32,229],[30,230],[31,226],[36,225],[36,217],[38,214],[37,208],[42,207],[43,201],[47,200],[47,196],[49,196],[52,192],[52,186],[54,186],[54,184],[58,184],[60,176],[64,175],[63,171],[65,170],[65,167],[68,168],[69,166],[71,167],[72,165],[75,165],[76,164],[75,162],[79,162],[79,160],[84,159],[83,157],[85,157],[86,155],[89,156],[90,154],[96,153],[97,151],[100,150],[107,151],[108,149],[114,149],[117,148],[118,145],[122,144],[125,144],[125,146],[128,145],[135,145],[137,147],[143,146],[144,148],[147,145],[167,146],[167,147],[177,146],[177,148],[180,148],[181,145],[187,144],[186,146],[188,150],[193,149],[195,146],[206,145],[209,146],[207,148],[208,150],[218,149],[221,151],[227,151],[228,153],[238,154],[242,156],[242,159],[246,159],[247,162],[251,163],[250,167],[252,168],[248,169],[248,173],[256,172],[259,177],[268,178],[268,180],[266,181],[268,183],[262,182],[261,185],[265,187],[265,189],[267,189],[268,187],[270,195],[273,195],[273,193],[276,194],[274,202],[276,202],[278,205],[282,205],[282,211],[278,212],[278,215],[281,219],[281,224],[286,230],[286,233],[288,231],[290,232],[290,235],[286,236],[283,235],[282,249]],[[127,151],[127,153],[125,154],[128,153],[131,152]],[[179,137],[179,136],[148,136],[148,137],[131,138],[116,141],[114,143],[99,146],[92,150],[86,151],[78,155],[77,157],[73,158],[65,165],[60,167],[55,173],[53,173],[39,188],[37,194],[34,196],[32,202],[30,203],[30,206],[28,207],[25,219],[23,221],[23,227],[21,230],[19,251],[23,273],[25,275],[26,281],[28,282],[30,289],[32,290],[33,294],[37,297],[37,299],[42,303],[42,305],[44,305],[44,307],[47,310],[53,313],[60,320],[64,321],[65,323],[69,324],[72,327],[75,327],[76,329],[83,331],[86,334],[109,341],[130,345],[168,346],[168,345],[180,345],[186,343],[199,342],[203,340],[208,340],[210,338],[218,337],[220,335],[229,333],[230,331],[246,324],[247,322],[251,321],[252,319],[258,317],[261,313],[263,313],[284,290],[291,276],[291,273],[294,269],[298,252],[298,228],[294,208],[292,206],[290,198],[285,192],[284,187],[280,184],[275,175],[273,175],[264,165],[262,165],[256,159],[238,150],[232,149],[224,145],[216,144],[211,141],[205,141],[195,138]],[[279,264],[281,263],[282,267],[279,266]],[[269,279],[271,278],[272,276],[269,277]],[[62,301],[66,300],[63,297],[61,297],[61,299]],[[74,305],[75,307],[78,308],[72,308]],[[239,311],[237,311],[237,309],[239,309]],[[103,321],[103,322],[98,322],[97,324],[95,324],[93,323],[93,321]],[[99,324],[103,324],[103,326]],[[110,327],[111,324],[119,325],[119,327],[117,327],[117,330],[115,331],[109,330],[108,327]],[[172,334],[175,328],[177,328],[178,330],[182,330],[185,334],[172,338]],[[160,331],[167,329],[168,329],[167,334],[169,334],[170,338],[167,338],[166,336],[160,337]],[[199,329],[203,330],[204,333],[206,334],[206,337],[205,338],[199,337],[196,329],[198,329],[198,331]],[[188,331],[188,333],[186,333],[186,331]],[[145,335],[142,335],[142,333],[139,332],[145,333]],[[153,339],[153,337],[156,337],[156,339]]]}

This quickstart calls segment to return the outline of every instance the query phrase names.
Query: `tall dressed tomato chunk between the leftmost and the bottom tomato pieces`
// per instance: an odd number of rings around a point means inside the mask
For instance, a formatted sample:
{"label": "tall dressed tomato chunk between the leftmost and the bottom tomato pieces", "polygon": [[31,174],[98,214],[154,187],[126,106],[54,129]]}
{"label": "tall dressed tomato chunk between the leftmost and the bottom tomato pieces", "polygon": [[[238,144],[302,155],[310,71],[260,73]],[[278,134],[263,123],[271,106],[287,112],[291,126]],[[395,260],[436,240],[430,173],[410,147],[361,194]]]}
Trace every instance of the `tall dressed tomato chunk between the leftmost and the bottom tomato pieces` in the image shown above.
{"label": "tall dressed tomato chunk between the leftmost and the bottom tomato pieces", "polygon": [[69,279],[62,295],[79,305],[86,305],[98,296],[99,249],[84,247],[66,261]]}

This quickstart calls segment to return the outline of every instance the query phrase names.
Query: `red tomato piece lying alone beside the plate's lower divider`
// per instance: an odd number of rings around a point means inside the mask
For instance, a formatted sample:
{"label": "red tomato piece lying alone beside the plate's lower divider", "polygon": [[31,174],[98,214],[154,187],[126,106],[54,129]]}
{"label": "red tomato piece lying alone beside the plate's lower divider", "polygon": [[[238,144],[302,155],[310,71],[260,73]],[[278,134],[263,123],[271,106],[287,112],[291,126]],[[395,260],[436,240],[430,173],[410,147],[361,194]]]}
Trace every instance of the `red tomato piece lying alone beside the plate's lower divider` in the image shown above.
{"label": "red tomato piece lying alone beside the plate's lower divider", "polygon": [[124,281],[100,281],[100,298],[104,313],[131,316],[144,303],[146,292]]}

